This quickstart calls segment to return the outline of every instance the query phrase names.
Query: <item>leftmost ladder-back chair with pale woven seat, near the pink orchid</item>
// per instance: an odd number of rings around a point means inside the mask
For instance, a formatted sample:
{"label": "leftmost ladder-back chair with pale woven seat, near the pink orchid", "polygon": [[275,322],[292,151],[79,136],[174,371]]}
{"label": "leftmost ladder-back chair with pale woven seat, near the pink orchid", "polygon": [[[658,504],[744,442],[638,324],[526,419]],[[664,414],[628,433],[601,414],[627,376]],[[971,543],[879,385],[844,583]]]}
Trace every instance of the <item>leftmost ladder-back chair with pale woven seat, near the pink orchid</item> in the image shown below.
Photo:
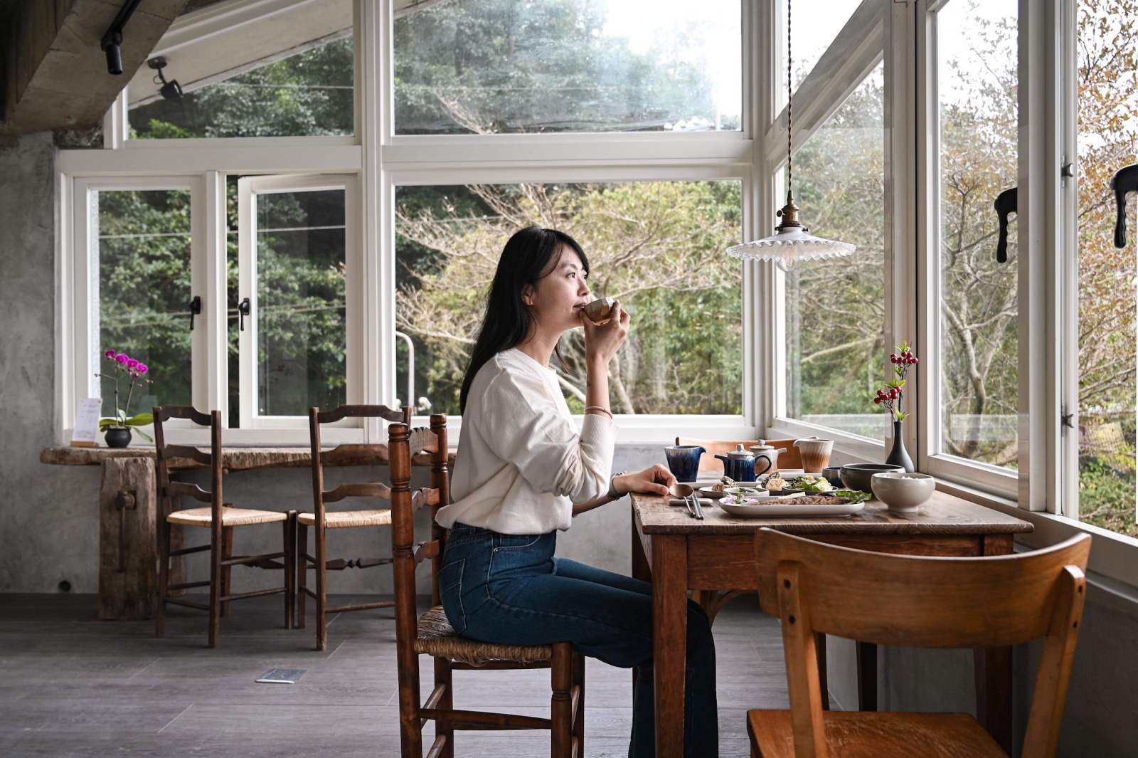
{"label": "leftmost ladder-back chair with pale woven seat, near the pink orchid", "polygon": [[[167,445],[163,423],[170,419],[189,419],[195,423],[209,427],[209,452],[187,445]],[[222,499],[222,448],[221,448],[221,411],[206,414],[189,405],[166,405],[154,409],[154,439],[158,459],[158,621],[156,636],[163,636],[166,629],[166,603],[197,608],[209,612],[209,646],[217,646],[217,635],[221,617],[229,612],[229,603],[246,598],[259,598],[283,593],[284,628],[292,626],[292,576],[294,547],[296,535],[292,530],[296,511],[261,511],[233,508]],[[209,489],[170,478],[170,461],[183,459],[206,465],[211,471]],[[176,509],[181,497],[191,497],[203,503],[205,508]],[[263,555],[233,555],[233,529],[253,524],[280,522],[283,529],[283,545],[280,552]],[[204,527],[209,529],[209,544],[195,547],[171,550],[171,525],[182,527]],[[182,582],[170,584],[170,559],[209,551],[209,579],[203,582]],[[281,559],[282,562],[278,562]],[[271,590],[257,590],[233,594],[231,591],[231,572],[234,566],[253,566],[264,569],[283,569],[284,583]],[[209,602],[199,603],[181,596],[171,596],[171,592],[190,590],[192,587],[209,587]]]}

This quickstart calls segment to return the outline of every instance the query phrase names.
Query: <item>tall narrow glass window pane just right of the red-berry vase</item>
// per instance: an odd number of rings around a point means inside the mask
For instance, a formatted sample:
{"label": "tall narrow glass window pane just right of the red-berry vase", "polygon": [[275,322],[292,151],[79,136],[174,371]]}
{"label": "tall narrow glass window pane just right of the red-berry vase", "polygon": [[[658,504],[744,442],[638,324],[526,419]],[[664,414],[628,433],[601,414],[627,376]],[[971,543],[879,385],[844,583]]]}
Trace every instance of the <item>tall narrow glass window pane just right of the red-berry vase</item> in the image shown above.
{"label": "tall narrow glass window pane just right of the red-berry vase", "polygon": [[1019,173],[1016,19],[1016,0],[954,0],[937,18],[940,452],[1009,468],[1019,448],[1019,255],[1013,216],[1007,261],[997,259],[993,204]]}

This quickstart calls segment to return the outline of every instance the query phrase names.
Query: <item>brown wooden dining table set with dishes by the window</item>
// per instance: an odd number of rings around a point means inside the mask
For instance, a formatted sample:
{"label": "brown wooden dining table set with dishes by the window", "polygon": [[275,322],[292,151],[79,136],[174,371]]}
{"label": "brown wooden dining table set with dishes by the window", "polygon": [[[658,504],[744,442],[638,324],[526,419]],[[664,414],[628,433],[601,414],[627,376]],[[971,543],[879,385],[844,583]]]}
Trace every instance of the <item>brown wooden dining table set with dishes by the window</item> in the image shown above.
{"label": "brown wooden dining table set with dishes by the window", "polygon": [[[958,557],[1008,554],[1014,536],[1033,528],[942,492],[915,514],[890,513],[879,501],[844,517],[737,518],[715,505],[703,513],[698,520],[659,495],[632,495],[633,576],[652,583],[658,758],[683,755],[687,591],[756,590],[760,528],[859,550]],[[876,710],[877,648],[858,642],[857,651],[859,709]],[[980,723],[1011,755],[1012,649],[976,650],[975,676]]]}

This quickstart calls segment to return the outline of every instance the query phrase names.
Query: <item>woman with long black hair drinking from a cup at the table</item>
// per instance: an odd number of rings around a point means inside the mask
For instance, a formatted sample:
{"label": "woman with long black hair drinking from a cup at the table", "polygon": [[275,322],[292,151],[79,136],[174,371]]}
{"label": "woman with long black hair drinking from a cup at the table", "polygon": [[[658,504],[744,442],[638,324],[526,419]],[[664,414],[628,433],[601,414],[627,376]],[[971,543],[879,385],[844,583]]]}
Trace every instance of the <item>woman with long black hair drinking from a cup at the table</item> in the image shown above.
{"label": "woman with long black hair drinking from a cup at the table", "polygon": [[[663,465],[610,476],[617,431],[609,362],[628,333],[617,303],[593,323],[588,261],[568,234],[522,229],[505,245],[486,318],[462,381],[462,436],[437,521],[450,529],[438,584],[465,637],[498,644],[570,642],[575,651],[638,667],[628,755],[655,755],[651,585],[554,558],[558,530],[628,492],[666,495]],[[588,372],[580,434],[550,368],[561,336],[585,329]],[[560,353],[558,353],[560,359]],[[687,610],[684,755],[718,755],[715,643],[707,615]]]}

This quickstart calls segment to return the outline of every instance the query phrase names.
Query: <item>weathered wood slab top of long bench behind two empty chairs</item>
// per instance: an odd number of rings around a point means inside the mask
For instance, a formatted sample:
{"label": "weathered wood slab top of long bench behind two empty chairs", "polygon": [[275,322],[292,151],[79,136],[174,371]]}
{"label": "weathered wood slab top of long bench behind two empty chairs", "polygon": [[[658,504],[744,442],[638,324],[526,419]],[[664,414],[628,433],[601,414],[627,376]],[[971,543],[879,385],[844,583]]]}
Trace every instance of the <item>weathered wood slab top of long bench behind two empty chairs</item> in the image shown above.
{"label": "weathered wood slab top of long bench behind two empty chairs", "polygon": [[[208,453],[209,447],[198,447]],[[339,445],[333,454],[325,451],[321,458],[324,465],[387,465],[387,445]],[[307,447],[223,447],[222,465],[230,471],[248,469],[288,469],[312,465],[312,454]],[[152,447],[47,447],[40,453],[41,463],[57,465],[100,465],[114,458],[149,458],[155,459]],[[430,454],[420,453],[411,458],[413,465],[430,465]],[[450,465],[454,465],[454,451],[451,451]],[[172,469],[197,469],[201,463],[188,458],[170,460]]]}

